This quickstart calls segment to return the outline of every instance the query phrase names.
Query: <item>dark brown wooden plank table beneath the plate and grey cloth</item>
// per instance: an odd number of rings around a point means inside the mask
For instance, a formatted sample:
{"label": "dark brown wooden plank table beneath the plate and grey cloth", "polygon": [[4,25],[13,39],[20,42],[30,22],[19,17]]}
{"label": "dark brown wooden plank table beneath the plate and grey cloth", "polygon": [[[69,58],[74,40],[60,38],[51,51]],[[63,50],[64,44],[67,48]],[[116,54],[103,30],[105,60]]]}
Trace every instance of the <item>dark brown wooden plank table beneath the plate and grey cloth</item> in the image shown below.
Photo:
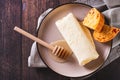
{"label": "dark brown wooden plank table beneath the plate and grey cloth", "polygon": [[[39,15],[75,0],[0,0],[0,80],[70,80],[50,69],[29,68],[33,41],[13,31],[15,25],[35,35]],[[102,0],[79,0],[94,5]],[[120,47],[117,46],[119,49]],[[120,80],[120,58],[86,80]]]}

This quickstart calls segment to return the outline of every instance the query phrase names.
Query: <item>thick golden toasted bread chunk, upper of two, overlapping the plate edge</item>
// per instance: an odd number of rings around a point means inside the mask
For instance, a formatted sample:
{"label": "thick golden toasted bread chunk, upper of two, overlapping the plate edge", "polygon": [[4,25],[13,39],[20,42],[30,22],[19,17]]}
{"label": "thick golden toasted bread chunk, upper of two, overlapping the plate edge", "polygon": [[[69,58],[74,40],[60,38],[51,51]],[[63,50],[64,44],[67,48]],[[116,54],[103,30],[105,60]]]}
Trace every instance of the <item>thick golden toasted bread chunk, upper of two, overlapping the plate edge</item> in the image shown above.
{"label": "thick golden toasted bread chunk, upper of two, overlapping the plate edge", "polygon": [[96,8],[92,8],[84,18],[83,25],[100,32],[104,22],[104,16]]}

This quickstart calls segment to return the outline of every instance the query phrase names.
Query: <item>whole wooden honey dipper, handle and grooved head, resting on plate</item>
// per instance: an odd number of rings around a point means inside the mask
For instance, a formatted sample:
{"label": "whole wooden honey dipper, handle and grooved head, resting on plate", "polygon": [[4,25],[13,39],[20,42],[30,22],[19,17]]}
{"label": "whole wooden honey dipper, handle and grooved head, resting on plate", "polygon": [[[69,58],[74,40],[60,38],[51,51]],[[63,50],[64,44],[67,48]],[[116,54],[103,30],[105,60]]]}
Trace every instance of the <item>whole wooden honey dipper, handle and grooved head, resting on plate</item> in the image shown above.
{"label": "whole wooden honey dipper, handle and grooved head, resting on plate", "polygon": [[69,56],[69,51],[65,50],[62,46],[52,46],[46,42],[44,42],[43,40],[33,36],[32,34],[24,31],[23,29],[20,29],[19,27],[15,26],[14,30],[19,32],[20,34],[32,39],[33,41],[38,42],[39,44],[41,44],[42,46],[50,49],[52,51],[52,54],[54,54],[55,56],[57,56],[58,58],[61,59],[66,59]]}

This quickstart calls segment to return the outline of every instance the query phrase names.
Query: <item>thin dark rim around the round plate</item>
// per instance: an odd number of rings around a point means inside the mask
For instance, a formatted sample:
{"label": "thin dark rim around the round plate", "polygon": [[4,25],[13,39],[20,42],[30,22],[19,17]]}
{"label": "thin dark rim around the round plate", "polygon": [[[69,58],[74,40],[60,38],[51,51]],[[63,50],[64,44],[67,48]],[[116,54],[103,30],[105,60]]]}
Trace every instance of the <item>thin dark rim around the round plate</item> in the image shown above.
{"label": "thin dark rim around the round plate", "polygon": [[[44,16],[44,18],[41,20],[41,23],[40,23],[40,25],[39,25],[38,30],[36,31],[36,32],[37,32],[37,33],[36,33],[36,36],[38,37],[38,32],[39,32],[39,30],[40,30],[40,26],[42,25],[42,22],[45,20],[46,16],[48,16],[48,15],[49,15],[52,11],[54,11],[55,9],[57,9],[57,8],[59,8],[59,7],[61,7],[61,6],[70,5],[70,4],[85,5],[85,6],[88,6],[88,7],[93,8],[92,6],[90,6],[90,5],[88,5],[88,4],[79,3],[79,2],[71,2],[71,3],[60,4],[60,5],[56,6],[55,8],[53,8],[51,11],[49,11],[49,12]],[[109,43],[110,43],[110,51],[109,51],[109,54],[108,54],[106,60],[100,65],[100,67],[98,67],[95,71],[93,71],[93,72],[91,72],[91,73],[89,73],[89,74],[87,74],[87,75],[77,76],[77,77],[79,77],[79,78],[89,77],[89,76],[95,74],[96,72],[98,72],[98,71],[102,68],[102,66],[106,63],[106,61],[108,60],[108,58],[109,58],[109,56],[110,56],[110,53],[111,53],[111,50],[112,50],[112,41],[113,41],[113,40],[109,41]],[[66,77],[71,77],[71,78],[77,78],[77,77],[72,77],[72,76],[67,76],[67,75],[60,74],[59,72],[51,69],[51,68],[48,66],[48,64],[44,61],[44,59],[42,58],[42,56],[40,55],[41,52],[40,52],[40,50],[38,49],[39,44],[37,43],[36,45],[37,45],[37,51],[38,51],[38,53],[39,53],[39,56],[40,56],[41,60],[43,61],[43,63],[47,66],[47,68],[49,68],[50,70],[54,71],[55,73],[57,73],[57,74],[59,74],[59,75],[66,76]]]}

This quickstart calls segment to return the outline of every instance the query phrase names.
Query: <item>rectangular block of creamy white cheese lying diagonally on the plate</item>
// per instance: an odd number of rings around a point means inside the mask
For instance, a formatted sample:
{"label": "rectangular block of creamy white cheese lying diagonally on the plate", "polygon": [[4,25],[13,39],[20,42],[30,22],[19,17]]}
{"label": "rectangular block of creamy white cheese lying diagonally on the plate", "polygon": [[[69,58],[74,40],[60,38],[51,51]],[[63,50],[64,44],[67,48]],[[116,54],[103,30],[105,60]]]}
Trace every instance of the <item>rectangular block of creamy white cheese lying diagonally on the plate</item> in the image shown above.
{"label": "rectangular block of creamy white cheese lying diagonally on the plate", "polygon": [[98,58],[91,40],[72,13],[56,21],[56,26],[69,47],[75,54],[80,65],[85,65]]}

